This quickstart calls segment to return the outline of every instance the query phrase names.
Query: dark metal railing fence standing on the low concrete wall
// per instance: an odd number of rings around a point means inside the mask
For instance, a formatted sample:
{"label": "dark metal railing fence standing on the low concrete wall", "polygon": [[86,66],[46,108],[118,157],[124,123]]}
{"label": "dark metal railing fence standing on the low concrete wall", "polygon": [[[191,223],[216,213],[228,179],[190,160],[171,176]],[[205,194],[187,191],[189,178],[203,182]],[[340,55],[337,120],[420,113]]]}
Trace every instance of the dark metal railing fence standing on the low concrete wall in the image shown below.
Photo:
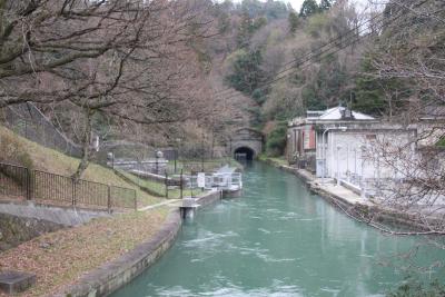
{"label": "dark metal railing fence standing on the low concrete wall", "polygon": [[137,208],[135,189],[109,186],[0,162],[0,195],[71,206]]}

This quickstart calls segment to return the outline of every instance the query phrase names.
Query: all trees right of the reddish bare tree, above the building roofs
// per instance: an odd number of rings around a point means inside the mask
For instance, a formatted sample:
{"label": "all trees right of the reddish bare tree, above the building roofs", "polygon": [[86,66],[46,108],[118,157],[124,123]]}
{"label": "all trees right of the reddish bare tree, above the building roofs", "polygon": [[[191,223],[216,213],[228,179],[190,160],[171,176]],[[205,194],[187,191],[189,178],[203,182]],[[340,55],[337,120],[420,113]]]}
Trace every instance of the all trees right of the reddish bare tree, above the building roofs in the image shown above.
{"label": "all trees right of the reddish bare tree, above the building roofs", "polygon": [[[283,154],[287,120],[306,110],[343,105],[407,122],[443,103],[433,87],[444,69],[443,6],[395,0],[358,11],[347,0],[305,0],[296,11],[280,1],[225,1],[214,4],[220,37],[208,48],[211,71],[250,100],[244,110],[270,155]],[[221,97],[239,95],[222,88]]]}

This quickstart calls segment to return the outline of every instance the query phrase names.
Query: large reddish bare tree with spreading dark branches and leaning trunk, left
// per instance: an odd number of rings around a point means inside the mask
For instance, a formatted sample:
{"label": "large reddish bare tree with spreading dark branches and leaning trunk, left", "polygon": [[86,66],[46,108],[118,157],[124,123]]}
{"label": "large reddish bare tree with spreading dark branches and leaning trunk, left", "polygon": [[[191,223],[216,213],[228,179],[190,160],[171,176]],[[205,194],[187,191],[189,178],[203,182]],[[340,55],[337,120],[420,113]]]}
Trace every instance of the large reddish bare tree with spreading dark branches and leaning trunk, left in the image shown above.
{"label": "large reddish bare tree with spreading dark branches and leaning trunk, left", "polygon": [[[196,1],[0,1],[0,107],[65,103],[82,113],[82,160],[96,115],[141,125],[191,115],[207,34]],[[192,86],[192,87],[190,87]]]}

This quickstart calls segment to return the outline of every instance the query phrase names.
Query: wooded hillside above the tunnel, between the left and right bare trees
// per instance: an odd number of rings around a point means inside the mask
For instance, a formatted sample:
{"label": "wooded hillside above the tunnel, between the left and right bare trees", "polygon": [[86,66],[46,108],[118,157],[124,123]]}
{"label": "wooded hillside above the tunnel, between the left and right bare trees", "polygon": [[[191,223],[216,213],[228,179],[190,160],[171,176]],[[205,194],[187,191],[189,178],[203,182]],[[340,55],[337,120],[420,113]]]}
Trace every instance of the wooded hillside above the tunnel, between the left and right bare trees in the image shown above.
{"label": "wooded hillside above the tunnel, between the left and right bare trees", "polygon": [[306,0],[300,11],[280,1],[214,6],[220,33],[208,47],[214,83],[222,81],[224,99],[249,99],[240,106],[267,135],[269,154],[283,154],[287,120],[306,109],[348,103],[356,88],[365,40],[352,30],[369,14],[348,1],[334,2]]}

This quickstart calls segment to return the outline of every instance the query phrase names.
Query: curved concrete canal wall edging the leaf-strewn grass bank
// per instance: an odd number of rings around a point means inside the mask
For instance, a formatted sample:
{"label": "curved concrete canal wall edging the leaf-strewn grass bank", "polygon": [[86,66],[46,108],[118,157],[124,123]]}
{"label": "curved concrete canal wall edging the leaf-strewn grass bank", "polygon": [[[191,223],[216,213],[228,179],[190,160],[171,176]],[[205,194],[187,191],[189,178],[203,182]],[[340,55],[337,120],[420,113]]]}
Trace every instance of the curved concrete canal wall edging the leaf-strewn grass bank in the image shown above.
{"label": "curved concrete canal wall edging the leaf-strewn grass bank", "polygon": [[53,296],[96,297],[113,293],[155,264],[174,244],[180,227],[181,218],[179,211],[171,212],[164,227],[152,239],[87,274],[75,285],[62,289],[61,293]]}

